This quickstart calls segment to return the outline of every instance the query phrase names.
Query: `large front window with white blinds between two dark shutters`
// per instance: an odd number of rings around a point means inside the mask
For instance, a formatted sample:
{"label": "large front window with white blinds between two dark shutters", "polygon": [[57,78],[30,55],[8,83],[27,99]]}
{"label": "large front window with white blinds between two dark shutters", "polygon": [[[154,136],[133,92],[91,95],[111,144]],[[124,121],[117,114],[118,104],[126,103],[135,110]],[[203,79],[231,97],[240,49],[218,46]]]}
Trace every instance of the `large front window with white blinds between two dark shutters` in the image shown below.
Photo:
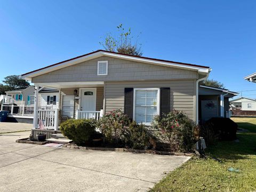
{"label": "large front window with white blinds between two dark shutters", "polygon": [[159,114],[159,89],[134,89],[134,119],[150,124]]}

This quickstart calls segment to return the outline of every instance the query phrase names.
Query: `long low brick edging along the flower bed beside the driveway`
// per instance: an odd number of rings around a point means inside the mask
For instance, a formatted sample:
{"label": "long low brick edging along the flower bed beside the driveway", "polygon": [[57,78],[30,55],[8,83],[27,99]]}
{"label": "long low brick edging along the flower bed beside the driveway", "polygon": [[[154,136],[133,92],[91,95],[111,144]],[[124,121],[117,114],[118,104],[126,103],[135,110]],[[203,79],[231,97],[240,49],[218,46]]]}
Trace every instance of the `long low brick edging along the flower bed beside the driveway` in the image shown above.
{"label": "long low brick edging along the flower bed beside the driveway", "polygon": [[82,147],[82,146],[73,145],[71,143],[63,145],[62,148],[82,149],[82,150],[102,150],[102,151],[108,150],[108,151],[144,153],[144,154],[154,154],[154,155],[196,156],[196,154],[194,153],[178,153],[178,152],[158,151],[158,150],[139,150],[139,149],[111,148],[111,147]]}

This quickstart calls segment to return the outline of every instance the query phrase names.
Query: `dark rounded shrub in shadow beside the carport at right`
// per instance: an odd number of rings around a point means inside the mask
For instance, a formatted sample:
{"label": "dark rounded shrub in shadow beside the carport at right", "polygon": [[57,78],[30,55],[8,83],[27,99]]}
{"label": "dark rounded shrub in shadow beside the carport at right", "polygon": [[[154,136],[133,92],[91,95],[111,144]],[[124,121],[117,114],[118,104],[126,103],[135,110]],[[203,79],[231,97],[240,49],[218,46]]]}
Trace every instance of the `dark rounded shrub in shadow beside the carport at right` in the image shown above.
{"label": "dark rounded shrub in shadow beside the carport at right", "polygon": [[230,118],[214,117],[205,122],[205,126],[211,124],[218,140],[230,141],[236,139],[237,124]]}

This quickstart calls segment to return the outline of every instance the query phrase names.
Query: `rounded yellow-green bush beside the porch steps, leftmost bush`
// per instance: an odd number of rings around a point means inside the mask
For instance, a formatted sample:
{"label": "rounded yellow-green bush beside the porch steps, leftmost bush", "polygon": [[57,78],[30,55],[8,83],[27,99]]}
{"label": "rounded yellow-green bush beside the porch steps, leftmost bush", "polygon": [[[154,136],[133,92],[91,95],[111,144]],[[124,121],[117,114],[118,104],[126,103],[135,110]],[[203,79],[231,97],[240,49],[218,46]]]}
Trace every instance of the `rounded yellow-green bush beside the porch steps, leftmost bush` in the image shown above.
{"label": "rounded yellow-green bush beside the porch steps, leftmost bush", "polygon": [[73,140],[77,145],[83,146],[95,133],[93,119],[68,119],[60,125],[61,133]]}

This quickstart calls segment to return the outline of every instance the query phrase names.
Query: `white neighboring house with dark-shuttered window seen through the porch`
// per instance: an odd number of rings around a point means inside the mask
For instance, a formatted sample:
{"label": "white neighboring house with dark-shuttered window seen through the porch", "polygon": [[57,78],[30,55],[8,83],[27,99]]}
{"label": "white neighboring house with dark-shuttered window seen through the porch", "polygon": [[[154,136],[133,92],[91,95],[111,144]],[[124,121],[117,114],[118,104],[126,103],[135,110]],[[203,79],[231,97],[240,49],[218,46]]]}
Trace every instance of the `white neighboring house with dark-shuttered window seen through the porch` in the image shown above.
{"label": "white neighboring house with dark-shuttered window seen through the porch", "polygon": [[[60,91],[57,89],[50,89],[42,87],[38,91],[38,107],[41,109],[58,109],[59,108],[59,98]],[[33,96],[35,98],[35,95]],[[32,100],[30,100],[31,103]],[[34,100],[33,100],[34,105]]]}

